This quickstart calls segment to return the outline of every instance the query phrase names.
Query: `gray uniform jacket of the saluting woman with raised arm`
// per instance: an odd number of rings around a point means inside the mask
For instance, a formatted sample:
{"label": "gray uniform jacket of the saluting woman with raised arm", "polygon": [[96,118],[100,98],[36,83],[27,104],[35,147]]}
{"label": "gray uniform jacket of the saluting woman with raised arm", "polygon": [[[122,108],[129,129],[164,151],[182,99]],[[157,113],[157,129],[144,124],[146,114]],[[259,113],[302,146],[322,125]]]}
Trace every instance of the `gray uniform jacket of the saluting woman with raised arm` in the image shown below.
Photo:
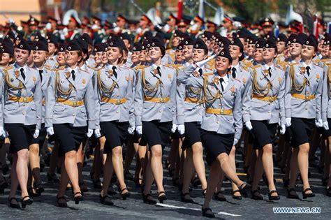
{"label": "gray uniform jacket of the saluting woman with raised arm", "polygon": [[[209,101],[204,102],[206,108],[201,122],[201,129],[214,131],[219,134],[235,134],[235,138],[240,140],[242,133],[242,82],[234,78],[229,78],[228,85],[221,92],[221,85],[217,73],[207,73],[203,78],[192,77],[191,74],[196,70],[193,66],[186,69],[186,74],[178,77],[179,82],[191,87],[200,87],[203,89],[204,98]],[[205,89],[204,89],[205,87]],[[216,93],[221,94],[220,98],[212,101]],[[231,110],[228,115],[210,114],[207,109]]]}

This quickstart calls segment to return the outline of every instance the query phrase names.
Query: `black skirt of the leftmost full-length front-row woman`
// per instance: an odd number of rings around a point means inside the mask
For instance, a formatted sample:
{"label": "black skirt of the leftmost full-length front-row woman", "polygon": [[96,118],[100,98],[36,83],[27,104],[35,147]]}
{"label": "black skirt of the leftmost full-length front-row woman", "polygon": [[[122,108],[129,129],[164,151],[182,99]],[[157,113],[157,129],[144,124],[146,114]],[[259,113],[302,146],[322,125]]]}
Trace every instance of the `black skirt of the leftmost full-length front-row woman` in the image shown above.
{"label": "black skirt of the leftmost full-length front-row woman", "polygon": [[29,149],[34,140],[36,124],[5,124],[5,129],[8,131],[8,138],[10,139],[9,152],[14,154],[22,149]]}

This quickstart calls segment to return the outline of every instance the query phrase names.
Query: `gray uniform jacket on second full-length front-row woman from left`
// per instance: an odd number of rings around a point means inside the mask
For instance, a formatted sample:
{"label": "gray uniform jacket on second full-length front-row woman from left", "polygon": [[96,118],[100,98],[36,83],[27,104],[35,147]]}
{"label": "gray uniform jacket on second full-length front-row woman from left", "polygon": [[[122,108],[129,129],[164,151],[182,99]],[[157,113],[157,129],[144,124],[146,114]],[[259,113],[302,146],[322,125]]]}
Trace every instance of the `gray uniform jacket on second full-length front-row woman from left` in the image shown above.
{"label": "gray uniform jacket on second full-length front-row woman from left", "polygon": [[[65,66],[55,70],[55,75],[52,75],[48,84],[45,127],[68,123],[73,126],[88,125],[89,129],[95,128],[95,96],[90,73],[75,68],[73,80],[71,68]],[[57,101],[58,98],[73,105]],[[82,101],[83,105],[75,105]]]}

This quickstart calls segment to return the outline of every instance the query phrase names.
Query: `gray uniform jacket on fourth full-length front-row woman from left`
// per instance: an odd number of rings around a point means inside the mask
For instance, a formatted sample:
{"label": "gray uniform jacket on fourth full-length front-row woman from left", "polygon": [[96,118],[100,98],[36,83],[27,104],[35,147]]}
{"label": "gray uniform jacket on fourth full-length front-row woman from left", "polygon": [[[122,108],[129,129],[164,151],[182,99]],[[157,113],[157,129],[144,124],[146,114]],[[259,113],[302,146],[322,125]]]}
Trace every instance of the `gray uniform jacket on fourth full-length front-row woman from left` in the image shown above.
{"label": "gray uniform jacket on fourth full-length front-row woman from left", "polygon": [[[161,77],[156,72],[156,65],[139,70],[135,86],[135,126],[153,120],[176,124],[176,69],[163,64],[160,67]],[[150,98],[162,98],[163,101]],[[170,100],[166,101],[168,98]]]}

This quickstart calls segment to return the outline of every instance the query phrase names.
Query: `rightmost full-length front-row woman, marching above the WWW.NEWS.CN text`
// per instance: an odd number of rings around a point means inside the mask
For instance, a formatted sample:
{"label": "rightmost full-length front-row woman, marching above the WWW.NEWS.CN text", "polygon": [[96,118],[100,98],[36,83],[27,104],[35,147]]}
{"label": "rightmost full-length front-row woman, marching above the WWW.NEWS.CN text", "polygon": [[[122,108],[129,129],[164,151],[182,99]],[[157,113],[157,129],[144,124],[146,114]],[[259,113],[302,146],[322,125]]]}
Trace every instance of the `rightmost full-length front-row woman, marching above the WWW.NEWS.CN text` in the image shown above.
{"label": "rightmost full-length front-row woman, marching above the WWW.NEWS.CN text", "polygon": [[315,196],[308,180],[309,136],[315,125],[323,126],[321,118],[323,68],[312,62],[316,52],[317,44],[314,36],[309,36],[302,45],[301,61],[290,64],[286,69],[288,74],[285,88],[286,126],[290,126],[292,131],[293,147],[288,198],[299,198],[294,189],[298,166],[303,182],[303,198]]}

